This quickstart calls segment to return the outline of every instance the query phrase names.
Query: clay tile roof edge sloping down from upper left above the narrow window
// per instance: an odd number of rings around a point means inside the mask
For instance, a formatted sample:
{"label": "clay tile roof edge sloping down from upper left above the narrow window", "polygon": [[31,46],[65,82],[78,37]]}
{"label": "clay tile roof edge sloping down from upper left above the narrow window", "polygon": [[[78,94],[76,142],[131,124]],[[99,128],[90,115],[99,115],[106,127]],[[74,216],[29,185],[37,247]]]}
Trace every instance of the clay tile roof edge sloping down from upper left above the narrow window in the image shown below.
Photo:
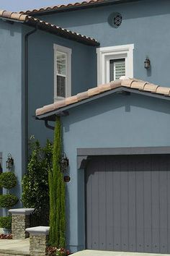
{"label": "clay tile roof edge sloping down from upper left above the narrow window", "polygon": [[69,38],[71,40],[76,40],[89,46],[99,46],[99,42],[97,42],[97,40],[94,38],[90,38],[86,35],[80,35],[79,33],[72,32],[71,30],[66,30],[63,27],[58,27],[57,25],[50,24],[49,22],[39,20],[35,17],[29,16],[28,14],[0,10],[0,17],[12,21],[24,22],[28,25],[37,25],[37,27],[39,27],[41,30],[46,30],[50,33],[54,33],[64,38]]}

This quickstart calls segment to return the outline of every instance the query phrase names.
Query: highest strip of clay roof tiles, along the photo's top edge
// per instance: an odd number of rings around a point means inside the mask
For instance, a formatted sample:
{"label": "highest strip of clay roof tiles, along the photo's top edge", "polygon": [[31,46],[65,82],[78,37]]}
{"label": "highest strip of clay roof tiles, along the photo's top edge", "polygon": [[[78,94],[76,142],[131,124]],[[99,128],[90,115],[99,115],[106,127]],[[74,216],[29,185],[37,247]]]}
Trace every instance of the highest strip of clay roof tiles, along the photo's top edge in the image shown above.
{"label": "highest strip of clay roof tiles, along the photo's top edge", "polygon": [[22,13],[22,14],[37,14],[37,13],[45,12],[45,11],[55,11],[58,9],[84,7],[84,6],[90,6],[90,5],[104,3],[104,2],[107,2],[107,1],[106,0],[80,1],[80,2],[69,3],[69,4],[58,4],[53,7],[41,7],[40,9],[32,9],[32,10],[22,11],[20,13]]}

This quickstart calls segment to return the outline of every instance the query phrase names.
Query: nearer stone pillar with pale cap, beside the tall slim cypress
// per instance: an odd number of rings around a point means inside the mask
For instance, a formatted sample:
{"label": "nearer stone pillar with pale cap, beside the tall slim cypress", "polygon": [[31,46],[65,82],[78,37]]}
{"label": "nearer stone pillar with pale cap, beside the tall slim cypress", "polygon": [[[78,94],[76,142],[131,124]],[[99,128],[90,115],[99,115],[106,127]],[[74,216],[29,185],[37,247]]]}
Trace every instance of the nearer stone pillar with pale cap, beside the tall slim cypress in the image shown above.
{"label": "nearer stone pillar with pale cap, beside the tall slim cypress", "polygon": [[26,229],[30,233],[30,256],[45,256],[48,246],[49,226],[36,226]]}

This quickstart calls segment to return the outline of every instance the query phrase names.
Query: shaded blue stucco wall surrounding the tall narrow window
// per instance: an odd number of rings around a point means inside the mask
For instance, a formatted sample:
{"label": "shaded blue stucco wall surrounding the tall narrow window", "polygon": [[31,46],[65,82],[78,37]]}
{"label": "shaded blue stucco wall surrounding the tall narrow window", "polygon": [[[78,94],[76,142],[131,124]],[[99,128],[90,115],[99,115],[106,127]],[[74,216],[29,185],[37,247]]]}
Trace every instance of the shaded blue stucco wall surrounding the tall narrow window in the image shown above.
{"label": "shaded blue stucco wall surrounding the tall narrow window", "polygon": [[[24,33],[26,33],[24,27]],[[30,28],[29,28],[30,29]],[[71,94],[88,90],[97,84],[96,48],[38,30],[29,38],[29,136],[44,143],[53,132],[42,121],[36,121],[36,108],[53,103],[54,52],[53,44],[72,49]],[[91,72],[92,71],[92,72]]]}

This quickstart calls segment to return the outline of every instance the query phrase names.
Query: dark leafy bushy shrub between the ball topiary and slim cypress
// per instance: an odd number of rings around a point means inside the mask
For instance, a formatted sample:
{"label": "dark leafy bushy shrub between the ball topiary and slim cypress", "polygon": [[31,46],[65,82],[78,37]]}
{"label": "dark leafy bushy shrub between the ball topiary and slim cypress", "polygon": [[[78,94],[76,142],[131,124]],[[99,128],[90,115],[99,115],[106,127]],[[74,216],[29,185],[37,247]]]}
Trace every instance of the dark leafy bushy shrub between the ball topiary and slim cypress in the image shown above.
{"label": "dark leafy bushy shrub between the ball topiary and slim cypress", "polygon": [[47,140],[45,147],[38,140],[30,142],[27,174],[22,179],[22,202],[25,208],[45,209],[49,212],[48,170],[52,166],[53,145]]}

